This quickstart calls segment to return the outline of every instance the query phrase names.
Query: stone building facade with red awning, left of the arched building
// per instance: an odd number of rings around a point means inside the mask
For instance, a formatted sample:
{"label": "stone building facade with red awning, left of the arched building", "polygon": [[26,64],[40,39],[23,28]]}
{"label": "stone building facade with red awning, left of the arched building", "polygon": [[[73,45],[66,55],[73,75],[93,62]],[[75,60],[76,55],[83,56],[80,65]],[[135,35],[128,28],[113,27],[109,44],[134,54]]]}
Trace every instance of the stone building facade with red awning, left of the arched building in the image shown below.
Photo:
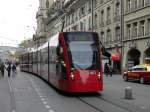
{"label": "stone building facade with red awning, left of the arched building", "polygon": [[100,40],[111,54],[111,66],[115,73],[121,72],[122,0],[94,0],[93,31],[99,33]]}

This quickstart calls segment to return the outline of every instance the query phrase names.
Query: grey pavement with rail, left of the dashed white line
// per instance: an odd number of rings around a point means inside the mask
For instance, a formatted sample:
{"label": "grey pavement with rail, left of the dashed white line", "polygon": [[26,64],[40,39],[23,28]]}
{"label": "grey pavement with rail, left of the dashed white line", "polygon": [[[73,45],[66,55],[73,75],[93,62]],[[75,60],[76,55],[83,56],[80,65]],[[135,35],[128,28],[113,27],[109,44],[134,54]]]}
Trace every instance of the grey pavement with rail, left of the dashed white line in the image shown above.
{"label": "grey pavement with rail, left of the dashed white line", "polygon": [[0,75],[0,112],[47,112],[33,83],[23,72],[10,78]]}

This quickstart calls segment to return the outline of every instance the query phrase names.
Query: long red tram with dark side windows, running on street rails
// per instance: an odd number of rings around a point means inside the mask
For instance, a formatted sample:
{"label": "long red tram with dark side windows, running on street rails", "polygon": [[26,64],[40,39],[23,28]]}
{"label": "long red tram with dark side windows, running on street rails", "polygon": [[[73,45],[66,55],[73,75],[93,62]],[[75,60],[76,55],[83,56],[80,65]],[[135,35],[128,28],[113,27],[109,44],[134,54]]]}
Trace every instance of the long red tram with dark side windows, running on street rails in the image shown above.
{"label": "long red tram with dark side windows, running on street rails", "polygon": [[[102,53],[94,32],[62,32],[22,55],[22,71],[32,72],[66,92],[103,90]],[[32,60],[31,60],[32,59]],[[27,63],[30,66],[25,66]],[[27,69],[27,67],[29,67]],[[32,69],[32,70],[31,70]]]}

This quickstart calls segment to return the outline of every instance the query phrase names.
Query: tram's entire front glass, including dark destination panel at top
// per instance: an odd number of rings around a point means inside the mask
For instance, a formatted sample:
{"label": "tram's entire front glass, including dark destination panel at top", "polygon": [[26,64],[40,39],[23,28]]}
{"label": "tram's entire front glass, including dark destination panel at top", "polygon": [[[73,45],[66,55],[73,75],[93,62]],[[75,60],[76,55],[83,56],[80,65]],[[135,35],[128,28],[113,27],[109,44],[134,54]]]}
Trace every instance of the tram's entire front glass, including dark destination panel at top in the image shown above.
{"label": "tram's entire front glass, including dark destination panel at top", "polygon": [[65,35],[71,68],[95,70],[99,67],[96,33],[72,32]]}

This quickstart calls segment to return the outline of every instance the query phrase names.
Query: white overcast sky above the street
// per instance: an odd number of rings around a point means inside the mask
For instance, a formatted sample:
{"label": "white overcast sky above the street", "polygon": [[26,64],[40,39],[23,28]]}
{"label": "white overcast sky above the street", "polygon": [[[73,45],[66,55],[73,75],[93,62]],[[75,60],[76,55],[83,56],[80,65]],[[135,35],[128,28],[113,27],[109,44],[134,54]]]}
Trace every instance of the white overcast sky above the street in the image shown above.
{"label": "white overcast sky above the street", "polygon": [[36,28],[39,0],[1,0],[0,46],[16,46],[31,38]]}

